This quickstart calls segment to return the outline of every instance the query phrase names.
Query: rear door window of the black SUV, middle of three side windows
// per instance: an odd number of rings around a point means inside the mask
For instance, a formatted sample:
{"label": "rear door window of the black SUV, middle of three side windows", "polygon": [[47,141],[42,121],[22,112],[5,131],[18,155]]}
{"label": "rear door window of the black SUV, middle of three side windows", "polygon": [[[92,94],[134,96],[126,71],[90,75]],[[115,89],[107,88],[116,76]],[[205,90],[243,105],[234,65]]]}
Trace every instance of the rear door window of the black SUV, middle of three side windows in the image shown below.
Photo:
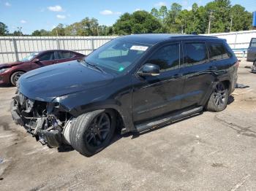
{"label": "rear door window of the black SUV, middle of three side windows", "polygon": [[193,66],[208,62],[208,53],[205,43],[186,43],[184,45],[184,48],[187,52],[187,66]]}

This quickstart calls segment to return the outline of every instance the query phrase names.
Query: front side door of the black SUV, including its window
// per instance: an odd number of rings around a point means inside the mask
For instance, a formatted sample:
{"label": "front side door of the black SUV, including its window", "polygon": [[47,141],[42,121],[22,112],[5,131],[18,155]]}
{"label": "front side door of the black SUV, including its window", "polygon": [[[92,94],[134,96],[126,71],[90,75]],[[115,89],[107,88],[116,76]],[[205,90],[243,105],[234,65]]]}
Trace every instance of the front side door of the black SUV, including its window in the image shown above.
{"label": "front side door of the black SUV, including its window", "polygon": [[159,76],[134,77],[133,120],[141,122],[181,109],[184,78],[180,71],[181,44],[167,44],[146,63],[159,66]]}

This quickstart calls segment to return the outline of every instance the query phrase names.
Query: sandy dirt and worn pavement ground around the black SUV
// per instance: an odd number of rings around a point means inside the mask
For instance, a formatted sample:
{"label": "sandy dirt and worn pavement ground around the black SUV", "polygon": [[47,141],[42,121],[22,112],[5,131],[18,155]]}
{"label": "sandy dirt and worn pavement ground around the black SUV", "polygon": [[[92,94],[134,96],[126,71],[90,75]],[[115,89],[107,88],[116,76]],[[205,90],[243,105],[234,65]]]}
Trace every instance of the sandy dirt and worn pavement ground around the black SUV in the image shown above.
{"label": "sandy dirt and worn pavement ground around the black SUV", "polygon": [[12,122],[0,87],[0,190],[256,190],[256,74],[242,62],[223,112],[140,136],[116,136],[93,157],[48,149]]}

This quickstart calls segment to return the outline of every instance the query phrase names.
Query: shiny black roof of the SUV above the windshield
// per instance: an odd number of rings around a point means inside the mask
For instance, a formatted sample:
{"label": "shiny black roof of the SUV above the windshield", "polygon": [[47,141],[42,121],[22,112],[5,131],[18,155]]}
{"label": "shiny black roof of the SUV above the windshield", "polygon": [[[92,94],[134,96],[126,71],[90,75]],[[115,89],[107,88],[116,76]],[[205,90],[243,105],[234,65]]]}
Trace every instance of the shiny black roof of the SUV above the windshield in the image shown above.
{"label": "shiny black roof of the SUV above the windshield", "polygon": [[194,34],[131,34],[127,36],[121,36],[119,39],[125,39],[130,42],[138,42],[141,44],[157,44],[168,39],[190,39],[190,38],[217,38],[215,36],[203,36]]}

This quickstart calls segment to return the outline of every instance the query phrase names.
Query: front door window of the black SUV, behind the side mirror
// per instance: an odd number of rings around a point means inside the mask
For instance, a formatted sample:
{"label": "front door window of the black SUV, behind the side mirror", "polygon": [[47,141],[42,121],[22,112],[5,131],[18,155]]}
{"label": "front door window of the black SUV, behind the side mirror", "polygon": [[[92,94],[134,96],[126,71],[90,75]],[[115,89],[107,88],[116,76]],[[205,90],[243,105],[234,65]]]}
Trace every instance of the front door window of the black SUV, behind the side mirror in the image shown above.
{"label": "front door window of the black SUV, behind the side mirror", "polygon": [[180,60],[180,45],[171,44],[160,48],[151,58],[148,59],[147,63],[157,64],[160,71],[168,71],[179,68]]}

